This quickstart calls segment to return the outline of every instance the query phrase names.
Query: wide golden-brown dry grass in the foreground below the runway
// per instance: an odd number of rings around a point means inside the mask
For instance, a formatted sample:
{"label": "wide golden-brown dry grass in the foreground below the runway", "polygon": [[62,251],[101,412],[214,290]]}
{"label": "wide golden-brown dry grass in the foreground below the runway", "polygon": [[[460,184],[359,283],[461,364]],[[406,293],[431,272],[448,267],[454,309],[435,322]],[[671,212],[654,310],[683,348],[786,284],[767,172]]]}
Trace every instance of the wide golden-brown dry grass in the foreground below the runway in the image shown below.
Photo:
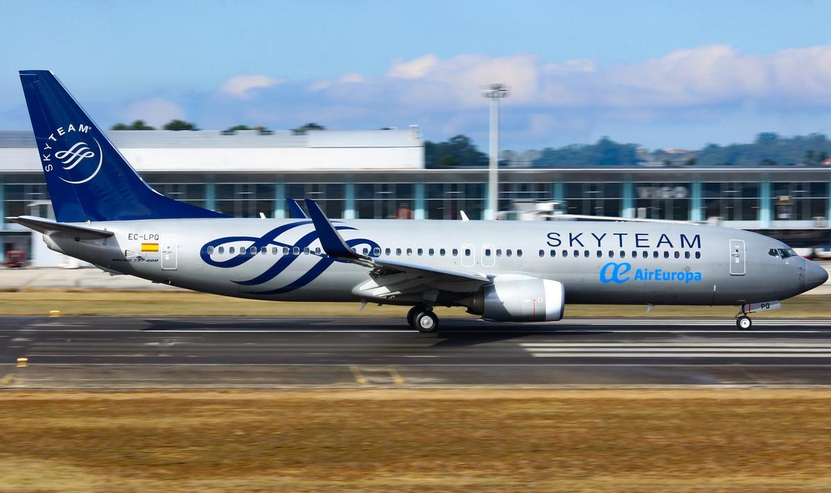
{"label": "wide golden-brown dry grass in the foreground below the runway", "polygon": [[825,391],[3,393],[0,491],[829,491]]}

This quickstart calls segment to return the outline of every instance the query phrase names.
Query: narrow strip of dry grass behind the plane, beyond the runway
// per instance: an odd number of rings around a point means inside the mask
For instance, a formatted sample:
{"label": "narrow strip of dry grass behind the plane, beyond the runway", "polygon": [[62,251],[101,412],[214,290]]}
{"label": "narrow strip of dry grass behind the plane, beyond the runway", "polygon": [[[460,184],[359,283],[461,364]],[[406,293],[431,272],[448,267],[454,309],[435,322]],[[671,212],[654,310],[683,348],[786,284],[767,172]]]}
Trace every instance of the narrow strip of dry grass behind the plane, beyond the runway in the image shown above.
{"label": "narrow strip of dry grass behind the plane, beyond the runway", "polygon": [[[286,303],[242,300],[190,291],[66,291],[0,292],[0,315],[140,315],[140,316],[391,316],[403,317],[406,307],[358,303]],[[732,306],[656,306],[646,314],[642,305],[567,305],[570,317],[717,317],[735,315]],[[440,316],[470,316],[460,308],[437,310]],[[755,314],[758,318],[831,318],[831,295],[804,295],[786,300],[782,310]]]}

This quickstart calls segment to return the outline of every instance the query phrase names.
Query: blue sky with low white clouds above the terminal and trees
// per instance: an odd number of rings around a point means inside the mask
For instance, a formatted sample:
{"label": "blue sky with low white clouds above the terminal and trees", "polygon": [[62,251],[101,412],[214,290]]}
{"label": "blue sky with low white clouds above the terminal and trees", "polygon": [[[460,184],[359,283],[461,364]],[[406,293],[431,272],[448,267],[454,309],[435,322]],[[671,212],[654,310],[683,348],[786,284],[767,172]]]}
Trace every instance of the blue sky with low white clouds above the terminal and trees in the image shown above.
{"label": "blue sky with low white clouds above the terminal and trees", "polygon": [[0,0],[0,129],[48,68],[100,124],[173,117],[332,129],[419,124],[503,149],[650,148],[831,134],[831,2]]}

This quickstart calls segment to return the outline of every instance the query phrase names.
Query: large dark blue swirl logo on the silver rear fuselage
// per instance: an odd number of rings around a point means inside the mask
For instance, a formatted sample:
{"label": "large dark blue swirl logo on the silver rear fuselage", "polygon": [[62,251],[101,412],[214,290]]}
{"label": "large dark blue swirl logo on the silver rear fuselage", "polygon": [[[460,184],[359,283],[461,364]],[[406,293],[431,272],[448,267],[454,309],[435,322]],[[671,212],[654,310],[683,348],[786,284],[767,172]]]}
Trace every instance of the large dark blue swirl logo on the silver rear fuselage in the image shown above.
{"label": "large dark blue swirl logo on the silver rear fuselage", "polygon": [[[288,247],[290,251],[295,251],[294,248],[297,247],[299,251],[304,251],[312,242],[315,242],[318,238],[317,231],[308,232],[302,237],[300,237],[297,242],[289,243],[285,242],[280,239],[280,237],[296,227],[302,227],[312,224],[311,221],[301,221],[301,222],[293,222],[291,224],[285,224],[280,227],[275,227],[273,230],[267,232],[262,237],[221,237],[210,242],[205,243],[200,252],[199,256],[201,256],[202,261],[204,261],[209,266],[219,267],[222,269],[230,269],[237,266],[241,266],[248,261],[252,261],[253,258],[257,256],[263,256],[259,253],[263,247]],[[355,227],[349,226],[335,226],[335,229],[338,231],[345,231],[345,230],[356,230]],[[236,243],[239,244],[240,242],[245,244],[245,247],[241,249],[241,251],[228,259],[224,260],[214,260],[211,254],[208,253],[209,247],[213,247],[211,250],[216,251],[217,247],[225,246],[229,243]],[[359,245],[366,245],[369,247],[369,251],[371,252],[370,255],[374,255],[375,249],[378,247],[376,242],[368,240],[366,238],[352,238],[351,240],[347,240],[347,245],[349,247],[357,247]],[[288,293],[293,290],[297,290],[306,286],[310,282],[314,281],[319,277],[324,271],[326,271],[332,264],[335,262],[343,262],[342,260],[332,258],[327,256],[325,253],[314,253],[313,251],[309,251],[306,255],[298,256],[298,255],[281,255],[279,256],[278,260],[273,263],[272,266],[269,266],[263,273],[259,274],[258,276],[254,276],[251,279],[245,279],[242,281],[233,281],[234,283],[238,284],[239,286],[260,286],[268,281],[272,281],[275,277],[279,276],[286,271],[289,266],[291,266],[294,262],[298,261],[299,259],[305,258],[313,258],[317,257],[314,265],[311,266],[307,271],[305,271],[301,276],[297,277],[294,281],[288,282],[288,284],[278,287],[276,289],[271,290],[248,290],[246,292],[251,294],[257,295],[280,295],[283,293]]]}

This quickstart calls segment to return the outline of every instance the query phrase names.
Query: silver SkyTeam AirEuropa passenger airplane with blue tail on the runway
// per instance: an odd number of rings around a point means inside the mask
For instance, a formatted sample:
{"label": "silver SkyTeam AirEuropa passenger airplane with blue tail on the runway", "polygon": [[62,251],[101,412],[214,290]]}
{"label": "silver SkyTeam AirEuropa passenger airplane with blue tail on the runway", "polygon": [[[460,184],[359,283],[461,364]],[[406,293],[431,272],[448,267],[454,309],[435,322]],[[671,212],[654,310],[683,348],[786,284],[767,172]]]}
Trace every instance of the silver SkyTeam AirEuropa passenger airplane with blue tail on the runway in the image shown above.
{"label": "silver SkyTeam AirEuropa passenger airplane with blue tail on the runway", "polygon": [[287,219],[234,218],[156,192],[50,71],[20,71],[55,221],[9,217],[54,251],[112,274],[255,300],[435,306],[548,322],[566,303],[735,305],[750,313],[828,279],[783,242],[655,222],[330,219],[312,200]]}

